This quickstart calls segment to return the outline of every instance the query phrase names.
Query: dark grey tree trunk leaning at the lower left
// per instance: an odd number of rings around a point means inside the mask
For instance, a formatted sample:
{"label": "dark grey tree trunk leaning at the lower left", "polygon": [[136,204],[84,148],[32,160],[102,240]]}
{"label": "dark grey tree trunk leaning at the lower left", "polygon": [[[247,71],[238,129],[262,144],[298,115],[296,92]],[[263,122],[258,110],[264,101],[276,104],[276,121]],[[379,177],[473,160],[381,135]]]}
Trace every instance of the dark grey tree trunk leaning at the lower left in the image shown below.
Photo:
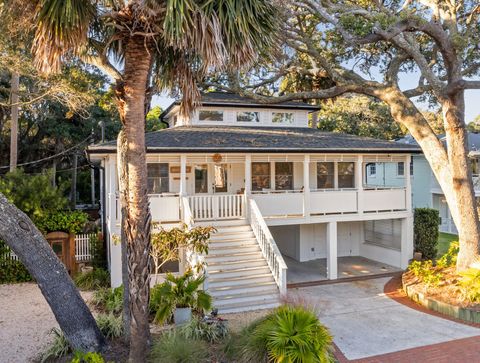
{"label": "dark grey tree trunk leaning at the lower left", "polygon": [[102,351],[105,339],[48,242],[30,219],[10,204],[3,194],[0,194],[0,215],[0,238],[36,280],[72,348],[84,352]]}

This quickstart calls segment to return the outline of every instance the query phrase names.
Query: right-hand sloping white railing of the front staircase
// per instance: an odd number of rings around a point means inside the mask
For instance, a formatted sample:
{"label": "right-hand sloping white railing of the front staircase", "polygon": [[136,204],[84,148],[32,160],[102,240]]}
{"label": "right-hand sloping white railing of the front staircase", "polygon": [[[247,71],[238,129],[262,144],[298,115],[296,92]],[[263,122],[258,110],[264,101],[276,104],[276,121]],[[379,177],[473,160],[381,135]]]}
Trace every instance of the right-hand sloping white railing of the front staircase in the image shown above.
{"label": "right-hand sloping white railing of the front staircase", "polygon": [[253,199],[249,199],[249,218],[253,233],[260,245],[263,257],[267,260],[268,267],[272,271],[280,293],[285,294],[287,292],[287,264],[283,260],[257,203]]}

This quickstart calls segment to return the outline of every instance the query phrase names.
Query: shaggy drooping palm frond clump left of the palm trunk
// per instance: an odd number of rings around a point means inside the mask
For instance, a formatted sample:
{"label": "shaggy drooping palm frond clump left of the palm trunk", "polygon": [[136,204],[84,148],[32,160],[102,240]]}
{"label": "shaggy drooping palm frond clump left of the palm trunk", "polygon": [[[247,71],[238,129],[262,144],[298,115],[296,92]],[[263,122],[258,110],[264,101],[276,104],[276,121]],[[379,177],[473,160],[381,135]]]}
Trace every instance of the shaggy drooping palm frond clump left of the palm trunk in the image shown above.
{"label": "shaggy drooping palm frond clump left of the palm trunk", "polygon": [[37,5],[33,54],[44,72],[58,72],[62,57],[79,53],[87,41],[96,6],[88,0],[42,0]]}

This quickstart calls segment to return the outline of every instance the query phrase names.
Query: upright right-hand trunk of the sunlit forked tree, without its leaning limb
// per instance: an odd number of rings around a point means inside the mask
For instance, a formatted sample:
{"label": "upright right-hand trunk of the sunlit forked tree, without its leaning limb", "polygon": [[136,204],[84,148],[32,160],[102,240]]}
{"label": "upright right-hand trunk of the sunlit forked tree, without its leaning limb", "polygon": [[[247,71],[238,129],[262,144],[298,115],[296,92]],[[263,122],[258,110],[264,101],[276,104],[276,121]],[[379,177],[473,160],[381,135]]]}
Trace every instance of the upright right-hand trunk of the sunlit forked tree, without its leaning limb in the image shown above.
{"label": "upright right-hand trunk of the sunlit forked tree, without its leaning limb", "polygon": [[472,183],[472,168],[468,159],[468,133],[464,121],[463,91],[442,102],[447,152],[452,171],[451,187],[456,197],[458,210],[458,237],[460,251],[457,271],[463,271],[479,257],[480,225],[475,192]]}

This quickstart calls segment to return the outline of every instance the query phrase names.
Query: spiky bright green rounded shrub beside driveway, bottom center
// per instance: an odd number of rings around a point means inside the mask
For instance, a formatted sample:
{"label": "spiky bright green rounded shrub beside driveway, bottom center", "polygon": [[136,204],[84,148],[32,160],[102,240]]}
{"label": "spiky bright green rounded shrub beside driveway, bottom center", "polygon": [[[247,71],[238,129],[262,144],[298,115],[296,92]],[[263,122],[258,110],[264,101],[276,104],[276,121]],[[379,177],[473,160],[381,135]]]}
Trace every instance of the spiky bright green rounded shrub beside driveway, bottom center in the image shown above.
{"label": "spiky bright green rounded shrub beside driveway, bottom center", "polygon": [[299,306],[283,305],[253,323],[238,340],[240,359],[247,362],[332,362],[332,337],[316,315]]}

